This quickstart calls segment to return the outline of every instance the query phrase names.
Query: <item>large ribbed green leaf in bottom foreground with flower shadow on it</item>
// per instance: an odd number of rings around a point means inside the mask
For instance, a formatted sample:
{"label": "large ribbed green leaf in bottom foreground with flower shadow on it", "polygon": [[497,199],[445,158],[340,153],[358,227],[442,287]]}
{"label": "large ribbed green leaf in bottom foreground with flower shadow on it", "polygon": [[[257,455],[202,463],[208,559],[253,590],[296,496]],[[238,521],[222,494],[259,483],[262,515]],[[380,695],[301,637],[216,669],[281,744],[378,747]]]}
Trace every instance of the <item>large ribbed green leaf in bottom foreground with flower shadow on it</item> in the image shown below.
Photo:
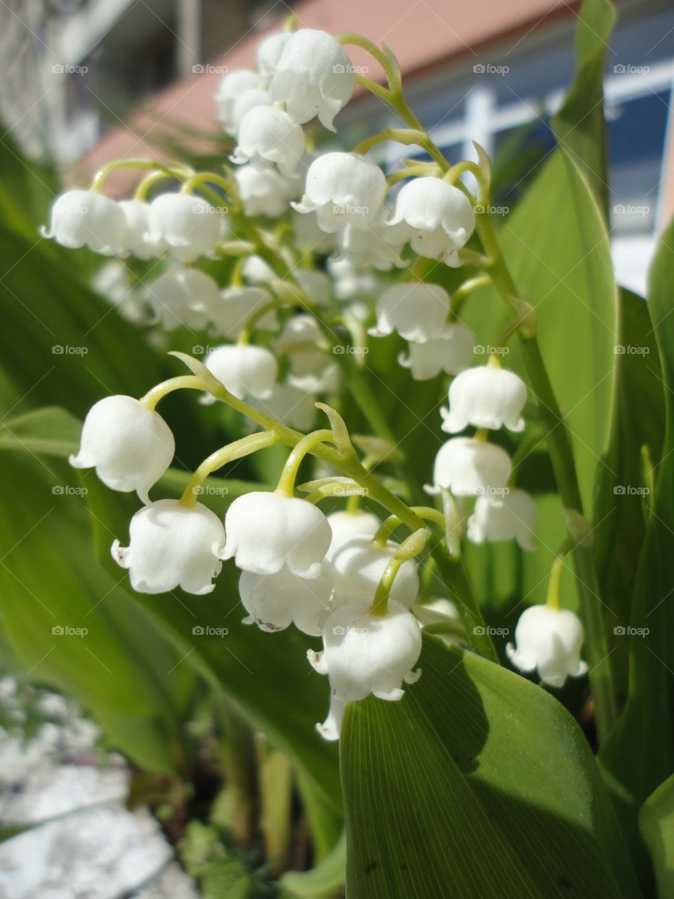
{"label": "large ribbed green leaf in bottom foreground with flower shadow on it", "polygon": [[401,702],[341,729],[351,899],[639,895],[583,734],[544,690],[424,636]]}

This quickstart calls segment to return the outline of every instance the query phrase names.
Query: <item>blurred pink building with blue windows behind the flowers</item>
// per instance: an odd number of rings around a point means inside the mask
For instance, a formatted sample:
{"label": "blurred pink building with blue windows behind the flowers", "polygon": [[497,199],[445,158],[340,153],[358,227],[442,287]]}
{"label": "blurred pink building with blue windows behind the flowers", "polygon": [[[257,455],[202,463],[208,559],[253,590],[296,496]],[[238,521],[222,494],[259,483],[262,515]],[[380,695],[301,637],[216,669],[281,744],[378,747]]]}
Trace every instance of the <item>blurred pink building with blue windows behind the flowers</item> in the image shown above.
{"label": "blurred pink building with blue windows behind the flowers", "polygon": [[[674,212],[674,7],[616,5],[606,76],[614,256],[619,280],[643,290],[654,234]],[[222,73],[253,65],[261,36],[289,12],[282,0],[10,0],[2,8],[9,89],[0,111],[9,132],[87,173],[115,156],[161,155],[161,138],[176,128],[212,132]],[[572,78],[578,8],[565,0],[292,4],[300,26],[360,31],[392,46],[412,106],[448,156],[470,156],[476,139],[510,166],[506,206],[554,146],[550,116]],[[377,79],[371,59],[351,55]],[[366,123],[373,133],[394,120],[361,94],[338,122],[355,140]],[[390,148],[390,162],[397,152]]]}

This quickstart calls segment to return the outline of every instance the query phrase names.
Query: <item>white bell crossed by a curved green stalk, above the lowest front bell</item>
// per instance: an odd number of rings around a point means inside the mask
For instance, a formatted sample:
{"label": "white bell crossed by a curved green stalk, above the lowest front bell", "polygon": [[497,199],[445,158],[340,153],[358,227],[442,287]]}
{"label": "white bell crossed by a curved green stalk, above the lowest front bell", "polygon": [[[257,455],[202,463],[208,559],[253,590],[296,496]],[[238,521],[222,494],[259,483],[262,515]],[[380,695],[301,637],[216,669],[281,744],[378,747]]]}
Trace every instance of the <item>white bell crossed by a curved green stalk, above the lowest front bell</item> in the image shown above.
{"label": "white bell crossed by a curved green stalk, above the lowest front bell", "polygon": [[[330,559],[335,603],[341,605],[352,600],[372,602],[377,584],[398,547],[393,540],[388,540],[386,546],[379,546],[362,534],[341,543]],[[409,609],[418,592],[419,570],[413,559],[407,559],[395,575],[391,599]]]}

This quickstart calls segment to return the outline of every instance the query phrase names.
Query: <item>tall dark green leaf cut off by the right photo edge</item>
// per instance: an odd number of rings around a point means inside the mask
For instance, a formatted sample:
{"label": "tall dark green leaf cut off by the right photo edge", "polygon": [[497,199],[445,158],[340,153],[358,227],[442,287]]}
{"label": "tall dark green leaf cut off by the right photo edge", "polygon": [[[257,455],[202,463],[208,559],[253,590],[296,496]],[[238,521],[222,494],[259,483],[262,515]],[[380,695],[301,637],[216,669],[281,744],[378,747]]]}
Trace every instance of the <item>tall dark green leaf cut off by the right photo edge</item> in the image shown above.
{"label": "tall dark green leaf cut off by the right photo edge", "polygon": [[[674,222],[661,236],[649,277],[648,306],[660,352],[665,439],[655,468],[652,513],[634,580],[628,642],[630,681],[625,710],[601,752],[607,781],[645,871],[636,816],[674,770]],[[657,372],[657,366],[653,366]],[[638,399],[639,397],[637,397]],[[645,876],[645,873],[644,873]]]}

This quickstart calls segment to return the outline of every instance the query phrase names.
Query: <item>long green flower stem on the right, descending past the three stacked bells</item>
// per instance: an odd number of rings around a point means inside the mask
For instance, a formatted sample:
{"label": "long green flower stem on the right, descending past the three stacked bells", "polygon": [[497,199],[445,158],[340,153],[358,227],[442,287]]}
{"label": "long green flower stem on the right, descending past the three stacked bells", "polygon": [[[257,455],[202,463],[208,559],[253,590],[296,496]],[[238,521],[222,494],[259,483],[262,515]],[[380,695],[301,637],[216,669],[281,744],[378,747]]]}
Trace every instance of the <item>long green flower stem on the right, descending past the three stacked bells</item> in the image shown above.
{"label": "long green flower stem on the right, descending past the three stacked bells", "polygon": [[[490,256],[489,275],[494,287],[501,294],[510,315],[519,321],[519,309],[513,303],[518,291],[510,276],[510,271],[501,253],[501,245],[493,229],[488,212],[477,216],[477,233],[482,245]],[[547,445],[552,460],[554,477],[560,499],[565,510],[583,515],[581,491],[576,476],[571,435],[564,421],[562,411],[554,396],[545,362],[535,336],[525,336],[519,331],[522,355],[528,370],[529,381],[537,397],[541,418],[548,426]],[[587,635],[587,653],[590,664],[590,686],[595,701],[597,732],[603,740],[616,721],[617,709],[613,688],[613,672],[609,662],[609,652],[604,619],[599,598],[599,586],[592,559],[590,540],[581,539],[573,548],[573,563],[576,584],[581,602],[582,617]]]}

